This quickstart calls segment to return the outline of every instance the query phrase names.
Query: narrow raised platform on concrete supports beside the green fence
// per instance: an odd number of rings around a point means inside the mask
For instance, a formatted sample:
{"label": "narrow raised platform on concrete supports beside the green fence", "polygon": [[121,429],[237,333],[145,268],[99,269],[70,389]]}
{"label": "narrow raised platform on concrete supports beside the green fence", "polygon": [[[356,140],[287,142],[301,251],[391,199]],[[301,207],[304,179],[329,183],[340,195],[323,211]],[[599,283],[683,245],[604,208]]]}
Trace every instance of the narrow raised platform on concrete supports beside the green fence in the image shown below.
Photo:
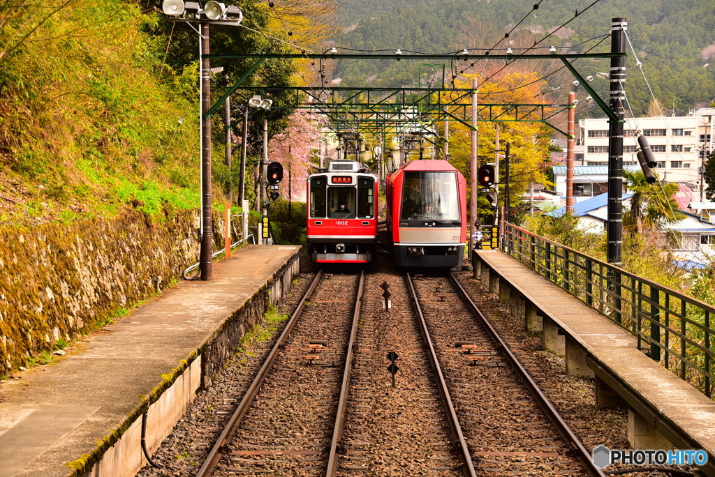
{"label": "narrow raised platform on concrete supports beside the green fence", "polygon": [[[537,325],[529,323],[527,311],[538,310],[545,347],[566,355],[568,373],[595,373],[597,389],[618,393],[618,403],[631,409],[628,438],[633,448],[702,449],[708,463],[701,471],[715,476],[715,402],[639,351],[630,333],[515,258],[479,250],[473,264],[475,277],[486,280],[503,303],[507,298],[525,301],[525,306],[512,309],[524,310],[529,331]],[[554,327],[563,332],[561,340]]]}

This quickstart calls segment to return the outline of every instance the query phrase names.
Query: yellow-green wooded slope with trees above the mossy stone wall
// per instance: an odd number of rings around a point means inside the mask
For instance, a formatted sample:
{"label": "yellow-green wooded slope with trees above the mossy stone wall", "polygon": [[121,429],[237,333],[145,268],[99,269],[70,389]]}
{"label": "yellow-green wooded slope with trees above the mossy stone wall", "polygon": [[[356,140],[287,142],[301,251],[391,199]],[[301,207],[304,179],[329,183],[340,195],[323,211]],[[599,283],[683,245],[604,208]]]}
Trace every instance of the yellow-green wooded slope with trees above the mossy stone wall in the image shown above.
{"label": "yellow-green wooded slope with trees above the mossy stone wall", "polygon": [[[211,26],[212,52],[288,51],[289,37],[314,45],[330,32],[329,1],[285,1],[280,9],[265,1],[232,3],[245,15],[242,27]],[[149,215],[198,206],[198,36],[185,22],[169,21],[161,4],[0,4],[0,225],[111,216],[124,204]],[[212,61],[224,67],[212,77],[214,99],[251,64]],[[296,71],[292,61],[270,59],[245,85],[290,86]],[[247,94],[235,95],[234,106]],[[273,136],[290,124],[290,113],[252,115],[250,171],[262,144],[262,119],[269,119]],[[219,199],[239,177],[238,161],[232,171],[224,164],[222,119],[213,120]]]}

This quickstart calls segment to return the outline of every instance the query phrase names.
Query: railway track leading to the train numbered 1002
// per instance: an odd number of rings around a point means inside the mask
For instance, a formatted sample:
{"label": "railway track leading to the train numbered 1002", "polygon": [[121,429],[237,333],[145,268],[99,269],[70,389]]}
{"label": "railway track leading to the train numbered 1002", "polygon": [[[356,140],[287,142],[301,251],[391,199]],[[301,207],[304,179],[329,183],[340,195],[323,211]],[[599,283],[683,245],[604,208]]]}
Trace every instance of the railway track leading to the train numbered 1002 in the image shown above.
{"label": "railway track leading to the train numbered 1002", "polygon": [[197,476],[315,475],[332,465],[363,281],[317,274]]}

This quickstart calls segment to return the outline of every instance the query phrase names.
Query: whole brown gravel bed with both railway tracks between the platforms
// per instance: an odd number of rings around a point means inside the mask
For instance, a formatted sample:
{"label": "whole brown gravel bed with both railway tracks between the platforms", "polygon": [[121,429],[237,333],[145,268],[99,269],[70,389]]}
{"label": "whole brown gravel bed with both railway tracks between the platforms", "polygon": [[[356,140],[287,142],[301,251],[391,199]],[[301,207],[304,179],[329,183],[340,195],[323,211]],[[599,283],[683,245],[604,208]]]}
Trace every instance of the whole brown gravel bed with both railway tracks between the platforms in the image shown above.
{"label": "whole brown gravel bed with both railway tracks between the platforms", "polygon": [[275,346],[260,347],[255,380],[230,383],[242,396],[236,411],[219,411],[224,397],[208,413],[227,428],[189,433],[198,445],[182,463],[211,448],[199,476],[603,475],[584,469],[588,453],[553,428],[560,418],[546,417],[551,406],[519,381],[456,281],[408,280],[384,263],[360,278],[316,276]]}

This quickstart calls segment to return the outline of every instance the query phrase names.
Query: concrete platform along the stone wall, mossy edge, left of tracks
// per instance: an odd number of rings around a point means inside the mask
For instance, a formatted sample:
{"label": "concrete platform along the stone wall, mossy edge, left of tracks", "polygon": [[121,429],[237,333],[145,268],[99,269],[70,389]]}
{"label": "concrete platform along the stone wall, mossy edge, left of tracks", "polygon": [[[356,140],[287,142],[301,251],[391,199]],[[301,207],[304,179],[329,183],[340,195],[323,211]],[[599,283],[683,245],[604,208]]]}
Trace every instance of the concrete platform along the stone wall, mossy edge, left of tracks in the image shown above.
{"label": "concrete platform along the stone wall, mossy edge, left of tracks", "polygon": [[299,246],[247,246],[0,387],[0,476],[133,476],[300,272]]}

